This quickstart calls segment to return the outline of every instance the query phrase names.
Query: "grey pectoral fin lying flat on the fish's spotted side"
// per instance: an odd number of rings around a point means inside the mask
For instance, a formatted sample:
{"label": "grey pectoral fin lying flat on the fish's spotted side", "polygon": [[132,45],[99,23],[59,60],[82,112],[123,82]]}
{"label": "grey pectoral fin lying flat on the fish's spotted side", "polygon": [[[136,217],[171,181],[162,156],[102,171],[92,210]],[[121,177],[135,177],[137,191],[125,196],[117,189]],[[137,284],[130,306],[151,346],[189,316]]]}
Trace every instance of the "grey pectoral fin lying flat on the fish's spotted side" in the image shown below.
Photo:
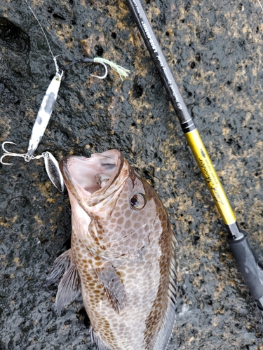
{"label": "grey pectoral fin lying flat on the fish's spotted side", "polygon": [[102,267],[95,269],[95,273],[109,303],[119,314],[127,304],[126,291],[119,275],[110,262],[106,262]]}

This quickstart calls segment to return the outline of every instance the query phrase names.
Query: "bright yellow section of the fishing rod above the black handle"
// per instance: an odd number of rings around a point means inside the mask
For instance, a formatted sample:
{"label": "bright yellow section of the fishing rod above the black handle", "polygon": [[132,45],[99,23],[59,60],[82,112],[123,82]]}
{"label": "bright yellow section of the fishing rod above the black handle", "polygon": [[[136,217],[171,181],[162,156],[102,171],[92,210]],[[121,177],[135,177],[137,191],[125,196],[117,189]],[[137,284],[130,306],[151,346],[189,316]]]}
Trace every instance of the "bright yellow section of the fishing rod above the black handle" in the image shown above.
{"label": "bright yellow section of the fishing rod above the black handle", "polygon": [[213,200],[215,201],[215,205],[217,206],[224,223],[226,225],[235,223],[236,218],[234,216],[234,212],[229,204],[227,195],[224,193],[224,188],[222,187],[220,179],[215,172],[215,168],[209,158],[208,152],[205,149],[198,130],[194,129],[191,132],[184,134],[184,136],[186,137],[191,151],[194,154],[194,158],[196,158],[198,167],[203,174],[205,183],[208,186],[208,190],[210,190]]}

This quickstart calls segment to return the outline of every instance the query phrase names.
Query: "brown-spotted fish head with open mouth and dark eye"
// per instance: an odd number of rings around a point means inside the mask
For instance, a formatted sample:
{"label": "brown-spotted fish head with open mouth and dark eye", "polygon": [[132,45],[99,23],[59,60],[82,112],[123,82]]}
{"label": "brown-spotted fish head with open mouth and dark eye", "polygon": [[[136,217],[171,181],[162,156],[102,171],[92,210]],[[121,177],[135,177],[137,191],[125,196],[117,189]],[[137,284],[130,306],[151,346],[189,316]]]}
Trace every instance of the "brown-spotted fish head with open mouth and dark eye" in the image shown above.
{"label": "brown-spotted fish head with open mouth and dark eye", "polygon": [[72,206],[72,231],[96,255],[140,259],[161,235],[166,216],[161,200],[121,152],[68,156],[60,170]]}

